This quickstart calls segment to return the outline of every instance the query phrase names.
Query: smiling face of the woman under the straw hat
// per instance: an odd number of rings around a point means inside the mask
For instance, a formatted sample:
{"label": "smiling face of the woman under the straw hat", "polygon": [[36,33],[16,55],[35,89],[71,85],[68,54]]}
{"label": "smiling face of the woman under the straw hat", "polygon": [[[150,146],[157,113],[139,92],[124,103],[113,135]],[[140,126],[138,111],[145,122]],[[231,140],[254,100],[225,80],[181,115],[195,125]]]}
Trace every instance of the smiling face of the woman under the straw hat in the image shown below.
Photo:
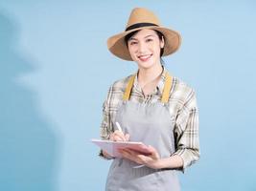
{"label": "smiling face of the woman under the straw hat", "polygon": [[144,29],[128,39],[128,51],[139,68],[149,69],[160,64],[160,50],[164,39],[159,39],[153,30]]}

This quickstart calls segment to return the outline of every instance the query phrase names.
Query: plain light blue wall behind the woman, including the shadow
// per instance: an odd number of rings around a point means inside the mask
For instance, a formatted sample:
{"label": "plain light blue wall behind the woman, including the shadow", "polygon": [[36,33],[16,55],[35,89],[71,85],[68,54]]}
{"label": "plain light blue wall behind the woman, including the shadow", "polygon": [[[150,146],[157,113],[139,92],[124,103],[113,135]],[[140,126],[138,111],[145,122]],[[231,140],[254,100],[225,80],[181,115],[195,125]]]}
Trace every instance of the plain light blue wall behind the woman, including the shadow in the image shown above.
{"label": "plain light blue wall behind the woman, including the shadow", "polygon": [[181,33],[164,60],[197,91],[201,159],[182,190],[256,190],[255,1],[1,0],[1,191],[104,190],[89,140],[110,84],[137,69],[106,49],[134,7]]}

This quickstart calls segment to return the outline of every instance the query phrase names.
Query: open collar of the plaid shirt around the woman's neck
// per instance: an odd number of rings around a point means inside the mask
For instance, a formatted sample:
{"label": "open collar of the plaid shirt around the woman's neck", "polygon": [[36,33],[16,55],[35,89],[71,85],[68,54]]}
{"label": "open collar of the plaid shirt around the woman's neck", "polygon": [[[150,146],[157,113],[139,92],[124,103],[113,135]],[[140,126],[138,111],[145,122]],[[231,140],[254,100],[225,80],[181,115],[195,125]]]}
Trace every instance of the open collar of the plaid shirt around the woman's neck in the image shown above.
{"label": "open collar of the plaid shirt around the woman's neck", "polygon": [[[164,85],[165,85],[165,81],[166,81],[165,74],[167,73],[167,70],[166,70],[166,68],[163,65],[162,65],[162,68],[163,68],[163,72],[161,74],[159,82],[156,85],[156,89],[154,89],[153,92],[152,92],[153,95],[154,94],[162,95],[162,93],[163,93]],[[139,73],[139,70],[137,71],[137,73],[135,75],[133,87],[137,91],[142,92],[142,89],[141,89],[141,87],[139,86],[139,83],[138,83],[138,73]]]}

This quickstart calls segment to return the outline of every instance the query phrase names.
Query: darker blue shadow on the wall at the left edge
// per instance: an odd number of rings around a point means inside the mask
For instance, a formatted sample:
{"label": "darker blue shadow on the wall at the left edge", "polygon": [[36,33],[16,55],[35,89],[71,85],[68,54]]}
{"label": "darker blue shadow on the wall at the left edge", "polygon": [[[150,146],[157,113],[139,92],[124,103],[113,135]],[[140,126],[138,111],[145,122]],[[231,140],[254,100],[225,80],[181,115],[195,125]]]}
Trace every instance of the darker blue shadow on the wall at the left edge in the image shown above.
{"label": "darker blue shadow on the wall at the left edge", "polygon": [[37,111],[36,93],[15,83],[35,68],[15,50],[17,25],[0,11],[0,190],[53,191],[58,138]]}

